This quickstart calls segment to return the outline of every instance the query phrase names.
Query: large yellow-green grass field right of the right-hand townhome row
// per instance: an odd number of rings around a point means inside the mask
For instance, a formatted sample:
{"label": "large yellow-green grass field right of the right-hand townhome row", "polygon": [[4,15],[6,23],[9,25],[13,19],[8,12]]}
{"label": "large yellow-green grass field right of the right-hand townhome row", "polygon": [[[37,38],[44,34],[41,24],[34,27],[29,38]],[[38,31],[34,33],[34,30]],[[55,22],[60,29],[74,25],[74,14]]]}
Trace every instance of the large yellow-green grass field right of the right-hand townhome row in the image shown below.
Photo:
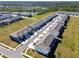
{"label": "large yellow-green grass field right of the right-hand townhome row", "polygon": [[71,17],[63,33],[62,42],[56,50],[56,57],[79,57],[79,17]]}

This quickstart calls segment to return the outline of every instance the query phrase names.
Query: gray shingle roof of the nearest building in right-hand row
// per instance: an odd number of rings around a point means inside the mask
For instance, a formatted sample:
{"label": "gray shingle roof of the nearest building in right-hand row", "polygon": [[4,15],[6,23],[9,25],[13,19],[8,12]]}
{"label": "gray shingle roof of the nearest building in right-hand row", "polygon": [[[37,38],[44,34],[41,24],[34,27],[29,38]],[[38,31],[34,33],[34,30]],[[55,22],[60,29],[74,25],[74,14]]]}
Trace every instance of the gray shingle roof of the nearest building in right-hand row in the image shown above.
{"label": "gray shingle roof of the nearest building in right-hand row", "polygon": [[40,40],[40,42],[41,42],[40,44],[38,44],[39,42],[37,42],[35,44],[35,47],[42,48],[45,51],[47,51],[48,49],[50,49],[49,46],[50,46],[51,42],[53,41],[53,39],[54,39],[54,36],[52,34],[49,34],[45,39]]}

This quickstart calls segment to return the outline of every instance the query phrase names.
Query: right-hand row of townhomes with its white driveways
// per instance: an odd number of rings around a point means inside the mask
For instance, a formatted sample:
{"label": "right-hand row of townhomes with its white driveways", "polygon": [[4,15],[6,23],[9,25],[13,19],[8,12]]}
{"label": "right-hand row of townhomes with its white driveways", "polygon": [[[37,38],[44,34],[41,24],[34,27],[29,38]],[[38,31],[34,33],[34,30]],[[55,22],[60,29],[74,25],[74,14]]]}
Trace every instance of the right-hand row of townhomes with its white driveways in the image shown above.
{"label": "right-hand row of townhomes with its white driveways", "polygon": [[41,30],[41,34],[29,46],[39,53],[48,56],[58,43],[58,37],[64,30],[68,15],[57,15]]}

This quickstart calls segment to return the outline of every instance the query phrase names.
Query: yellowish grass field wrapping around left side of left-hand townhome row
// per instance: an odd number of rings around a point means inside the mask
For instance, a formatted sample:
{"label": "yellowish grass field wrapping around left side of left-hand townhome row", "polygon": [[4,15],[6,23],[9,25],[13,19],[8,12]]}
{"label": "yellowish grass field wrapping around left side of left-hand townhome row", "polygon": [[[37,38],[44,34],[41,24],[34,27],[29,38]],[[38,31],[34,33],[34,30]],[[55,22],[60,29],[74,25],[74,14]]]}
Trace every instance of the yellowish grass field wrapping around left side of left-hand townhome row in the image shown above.
{"label": "yellowish grass field wrapping around left side of left-hand townhome row", "polygon": [[35,23],[37,20],[40,20],[41,18],[44,18],[44,17],[48,16],[49,14],[51,14],[51,12],[48,12],[48,13],[42,14],[42,15],[35,15],[31,18],[17,21],[12,24],[9,24],[7,26],[4,26],[4,27],[0,27],[0,42],[4,43],[10,47],[15,48],[18,45],[18,43],[15,41],[12,41],[9,38],[9,34],[16,32],[17,30],[23,28],[24,26]]}

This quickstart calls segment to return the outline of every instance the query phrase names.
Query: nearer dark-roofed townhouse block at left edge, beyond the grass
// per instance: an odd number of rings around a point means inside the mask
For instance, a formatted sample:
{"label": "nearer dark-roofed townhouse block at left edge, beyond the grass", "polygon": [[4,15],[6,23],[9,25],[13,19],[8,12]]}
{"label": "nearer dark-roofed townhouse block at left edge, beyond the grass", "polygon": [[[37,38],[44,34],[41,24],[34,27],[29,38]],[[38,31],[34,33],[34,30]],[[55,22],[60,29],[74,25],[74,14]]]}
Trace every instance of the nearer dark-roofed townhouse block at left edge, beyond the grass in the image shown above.
{"label": "nearer dark-roofed townhouse block at left edge, beyond the grass", "polygon": [[22,20],[21,17],[19,16],[16,16],[16,17],[12,17],[12,16],[0,16],[0,26],[5,26],[9,23],[13,23],[15,21],[18,21],[18,20]]}

